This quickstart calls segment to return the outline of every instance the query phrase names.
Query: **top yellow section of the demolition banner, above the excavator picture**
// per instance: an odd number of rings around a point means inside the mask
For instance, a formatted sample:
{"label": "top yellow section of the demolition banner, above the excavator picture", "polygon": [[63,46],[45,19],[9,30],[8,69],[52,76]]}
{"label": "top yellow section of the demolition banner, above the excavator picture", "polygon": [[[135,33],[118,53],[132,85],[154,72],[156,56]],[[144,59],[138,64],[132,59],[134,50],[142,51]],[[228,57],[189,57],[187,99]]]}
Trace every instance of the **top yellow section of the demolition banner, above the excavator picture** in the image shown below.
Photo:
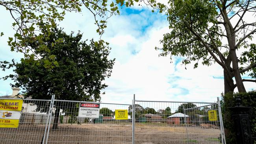
{"label": "top yellow section of the demolition banner, above the excavator picture", "polygon": [[0,100],[0,110],[21,111],[23,100]]}

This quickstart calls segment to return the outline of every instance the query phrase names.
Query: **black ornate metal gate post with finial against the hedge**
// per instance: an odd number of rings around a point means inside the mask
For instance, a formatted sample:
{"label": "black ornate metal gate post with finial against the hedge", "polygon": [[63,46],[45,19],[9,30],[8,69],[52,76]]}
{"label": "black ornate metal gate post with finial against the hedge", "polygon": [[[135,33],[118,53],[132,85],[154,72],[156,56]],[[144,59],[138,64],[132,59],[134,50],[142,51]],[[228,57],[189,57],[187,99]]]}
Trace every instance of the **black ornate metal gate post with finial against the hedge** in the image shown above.
{"label": "black ornate metal gate post with finial against the hedge", "polygon": [[250,131],[249,111],[251,107],[241,105],[241,99],[237,97],[237,105],[230,107],[232,118],[236,129],[237,144],[252,144],[252,134]]}

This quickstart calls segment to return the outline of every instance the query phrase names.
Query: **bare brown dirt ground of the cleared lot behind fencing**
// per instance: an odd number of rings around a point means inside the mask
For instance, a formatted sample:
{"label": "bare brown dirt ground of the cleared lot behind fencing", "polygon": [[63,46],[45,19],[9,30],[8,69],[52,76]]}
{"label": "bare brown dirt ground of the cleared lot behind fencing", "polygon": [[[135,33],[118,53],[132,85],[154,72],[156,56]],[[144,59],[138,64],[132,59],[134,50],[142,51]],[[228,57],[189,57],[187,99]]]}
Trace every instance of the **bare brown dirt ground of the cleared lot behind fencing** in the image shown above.
{"label": "bare brown dirt ground of the cleared lot behind fencing", "polygon": [[[0,144],[41,144],[45,125],[0,128]],[[50,129],[48,144],[131,144],[129,124],[59,124]],[[135,144],[219,144],[219,129],[137,123]]]}

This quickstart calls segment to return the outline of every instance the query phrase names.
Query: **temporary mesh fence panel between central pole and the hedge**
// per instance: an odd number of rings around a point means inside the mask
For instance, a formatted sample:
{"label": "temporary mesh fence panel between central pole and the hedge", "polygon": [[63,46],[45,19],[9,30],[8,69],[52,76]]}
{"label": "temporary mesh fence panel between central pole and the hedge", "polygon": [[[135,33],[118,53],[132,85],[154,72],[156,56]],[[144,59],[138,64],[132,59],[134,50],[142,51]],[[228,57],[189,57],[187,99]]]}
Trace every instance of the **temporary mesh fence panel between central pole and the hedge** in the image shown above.
{"label": "temporary mesh fence panel between central pole and the hedge", "polygon": [[[135,100],[135,144],[220,144],[218,103]],[[216,116],[209,120],[208,111]]]}

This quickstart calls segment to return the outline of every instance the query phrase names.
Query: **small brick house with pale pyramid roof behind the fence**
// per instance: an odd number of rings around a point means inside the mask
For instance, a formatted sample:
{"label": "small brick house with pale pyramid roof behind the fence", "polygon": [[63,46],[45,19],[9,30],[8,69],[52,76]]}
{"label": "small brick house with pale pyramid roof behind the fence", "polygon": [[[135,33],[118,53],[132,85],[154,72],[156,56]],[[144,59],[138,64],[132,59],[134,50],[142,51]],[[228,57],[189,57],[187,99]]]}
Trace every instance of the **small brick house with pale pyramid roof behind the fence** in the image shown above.
{"label": "small brick house with pale pyramid roof behind the fence", "polygon": [[186,118],[186,123],[189,124],[190,119],[188,115],[183,113],[176,113],[167,117],[167,124],[176,124],[176,125],[185,124],[185,118]]}

